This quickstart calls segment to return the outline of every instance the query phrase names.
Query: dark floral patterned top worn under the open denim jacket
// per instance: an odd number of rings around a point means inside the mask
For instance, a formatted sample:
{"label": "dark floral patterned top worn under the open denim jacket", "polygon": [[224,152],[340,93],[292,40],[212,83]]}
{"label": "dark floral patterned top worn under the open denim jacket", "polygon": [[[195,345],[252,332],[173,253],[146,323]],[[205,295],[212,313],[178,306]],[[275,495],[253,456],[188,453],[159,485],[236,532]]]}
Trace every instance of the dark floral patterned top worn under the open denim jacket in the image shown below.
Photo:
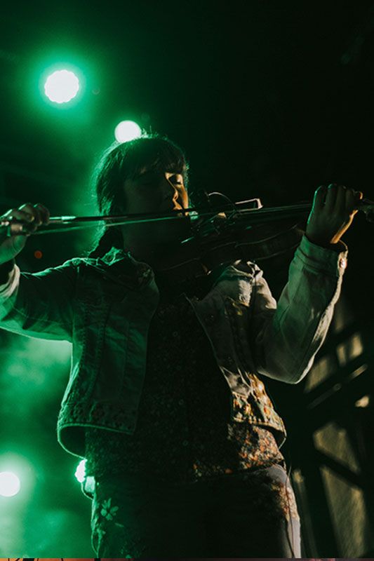
{"label": "dark floral patterned top worn under the open denim jacket", "polygon": [[[198,297],[199,290],[194,294]],[[185,293],[161,291],[149,327],[135,433],[86,429],[86,475],[128,473],[192,482],[283,464],[271,431],[230,421],[229,398],[227,381]]]}

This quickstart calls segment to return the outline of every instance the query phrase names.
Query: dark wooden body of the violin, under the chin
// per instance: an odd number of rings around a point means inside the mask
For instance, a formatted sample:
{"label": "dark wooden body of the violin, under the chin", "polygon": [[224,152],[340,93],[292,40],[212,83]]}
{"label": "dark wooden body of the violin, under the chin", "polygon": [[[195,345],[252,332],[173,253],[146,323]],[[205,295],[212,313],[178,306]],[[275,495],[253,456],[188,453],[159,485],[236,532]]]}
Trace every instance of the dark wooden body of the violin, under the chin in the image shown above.
{"label": "dark wooden body of the violin, under the chin", "polygon": [[275,295],[287,280],[288,266],[303,233],[294,219],[277,226],[243,228],[229,224],[221,213],[214,229],[210,224],[208,231],[195,231],[171,248],[156,267],[156,280],[160,290],[188,293],[200,287],[206,292],[226,266],[241,259],[264,270]]}

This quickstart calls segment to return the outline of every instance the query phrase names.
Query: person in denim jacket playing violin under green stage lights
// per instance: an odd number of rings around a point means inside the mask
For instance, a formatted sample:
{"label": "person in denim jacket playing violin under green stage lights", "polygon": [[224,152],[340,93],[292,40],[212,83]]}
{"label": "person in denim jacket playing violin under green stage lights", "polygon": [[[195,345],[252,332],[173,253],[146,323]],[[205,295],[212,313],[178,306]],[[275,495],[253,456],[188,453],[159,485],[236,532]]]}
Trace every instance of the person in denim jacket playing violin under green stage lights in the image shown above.
{"label": "person in denim jacket playing violin under green stage lights", "polygon": [[[95,191],[104,214],[178,213],[189,208],[185,154],[158,135],[116,144]],[[286,430],[266,380],[297,384],[312,367],[361,197],[316,190],[278,303],[243,259],[176,283],[182,212],[107,227],[88,257],[40,273],[15,264],[27,236],[2,241],[0,327],[72,342],[58,440],[86,459],[97,555],[300,557]],[[6,216],[32,232],[49,212],[27,203]]]}

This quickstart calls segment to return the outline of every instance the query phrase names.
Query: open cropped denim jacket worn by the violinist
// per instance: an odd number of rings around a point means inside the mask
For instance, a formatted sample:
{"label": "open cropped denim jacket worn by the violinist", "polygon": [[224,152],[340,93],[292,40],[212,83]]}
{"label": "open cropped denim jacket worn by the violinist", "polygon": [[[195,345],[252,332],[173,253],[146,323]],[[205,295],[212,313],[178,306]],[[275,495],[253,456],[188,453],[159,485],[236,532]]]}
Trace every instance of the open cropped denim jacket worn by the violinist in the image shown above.
{"label": "open cropped denim jacket worn by the violinist", "polygon": [[[232,419],[271,429],[279,445],[286,431],[259,375],[296,384],[312,367],[340,294],[347,256],[340,249],[304,236],[278,304],[259,267],[241,260],[223,269],[203,299],[185,295],[227,380]],[[114,249],[40,273],[20,273],[15,265],[0,285],[0,327],[72,342],[58,417],[58,439],[68,452],[84,457],[89,426],[134,433],[158,303],[152,268]]]}

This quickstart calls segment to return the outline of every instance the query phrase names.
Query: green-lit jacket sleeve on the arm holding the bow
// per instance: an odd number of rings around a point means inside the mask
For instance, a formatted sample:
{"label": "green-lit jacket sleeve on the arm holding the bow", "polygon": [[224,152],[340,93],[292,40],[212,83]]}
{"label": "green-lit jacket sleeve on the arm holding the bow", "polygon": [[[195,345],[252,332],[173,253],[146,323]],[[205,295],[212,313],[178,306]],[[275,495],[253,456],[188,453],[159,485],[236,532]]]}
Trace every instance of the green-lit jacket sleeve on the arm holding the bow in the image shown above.
{"label": "green-lit jacket sleeve on the arm holding the bow", "polygon": [[0,285],[0,327],[29,337],[71,341],[76,262],[40,273],[21,273],[14,264],[7,282]]}

